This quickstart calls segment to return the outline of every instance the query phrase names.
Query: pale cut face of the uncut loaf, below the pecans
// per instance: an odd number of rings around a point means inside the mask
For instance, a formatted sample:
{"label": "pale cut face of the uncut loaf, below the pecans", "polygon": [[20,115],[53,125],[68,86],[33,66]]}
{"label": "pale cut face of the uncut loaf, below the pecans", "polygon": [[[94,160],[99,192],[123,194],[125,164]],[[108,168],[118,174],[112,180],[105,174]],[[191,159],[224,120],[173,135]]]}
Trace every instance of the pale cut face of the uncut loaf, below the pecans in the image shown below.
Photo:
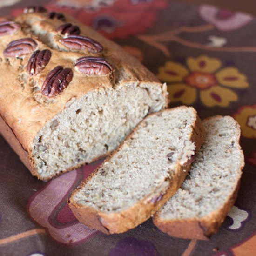
{"label": "pale cut face of the uncut loaf, below the pecans", "polygon": [[148,85],[89,93],[57,114],[32,143],[42,179],[93,162],[113,151],[149,111],[163,107],[161,91]]}

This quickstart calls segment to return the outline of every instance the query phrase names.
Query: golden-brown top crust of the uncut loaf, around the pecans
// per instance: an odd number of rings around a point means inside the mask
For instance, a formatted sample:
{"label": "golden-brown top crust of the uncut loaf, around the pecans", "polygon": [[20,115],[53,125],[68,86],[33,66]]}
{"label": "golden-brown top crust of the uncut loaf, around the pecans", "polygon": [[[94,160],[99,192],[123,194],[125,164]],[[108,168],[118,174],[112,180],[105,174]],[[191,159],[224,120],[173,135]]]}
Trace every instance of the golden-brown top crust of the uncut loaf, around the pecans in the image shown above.
{"label": "golden-brown top crust of the uncut loaf, around the pecans", "polygon": [[[46,13],[27,13],[18,16],[15,21],[21,24],[22,29],[14,34],[2,36],[0,40],[0,76],[2,84],[0,88],[0,115],[20,141],[22,148],[28,153],[30,153],[31,143],[35,135],[54,115],[66,108],[69,101],[78,99],[91,91],[111,89],[135,82],[140,87],[148,83],[153,84],[162,88],[163,98],[166,98],[167,95],[166,89],[162,87],[155,76],[120,46],[105,39],[68,15],[65,14],[65,17],[65,22],[71,22],[73,25],[80,27],[81,35],[89,36],[102,44],[104,47],[103,56],[113,66],[115,78],[110,79],[106,75],[89,77],[74,69],[76,59],[92,54],[82,50],[70,51],[70,49],[60,44],[61,37],[57,34],[56,28],[63,24],[63,21],[47,19]],[[43,36],[40,36],[40,33]],[[28,81],[26,73],[27,62],[31,54],[19,58],[3,56],[3,51],[9,42],[27,37],[37,42],[36,49],[49,49],[52,53],[50,62],[42,72],[33,77],[34,81]],[[34,89],[40,89],[46,75],[58,65],[72,68],[74,76],[61,94],[47,99]],[[84,82],[85,79],[86,82]]]}

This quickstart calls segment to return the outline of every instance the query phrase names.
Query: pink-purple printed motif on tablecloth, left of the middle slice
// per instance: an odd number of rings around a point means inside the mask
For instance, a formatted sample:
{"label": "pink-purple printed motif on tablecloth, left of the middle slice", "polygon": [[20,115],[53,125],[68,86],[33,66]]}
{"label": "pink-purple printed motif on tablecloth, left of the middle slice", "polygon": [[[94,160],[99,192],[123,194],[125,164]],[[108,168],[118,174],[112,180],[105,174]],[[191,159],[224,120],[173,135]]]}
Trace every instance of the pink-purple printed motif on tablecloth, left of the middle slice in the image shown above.
{"label": "pink-purple printed motif on tablecloth, left of the middle slice", "polygon": [[88,177],[101,162],[86,165],[48,182],[37,191],[27,204],[28,215],[54,240],[64,244],[77,244],[89,239],[97,231],[79,223],[69,207],[71,192]]}

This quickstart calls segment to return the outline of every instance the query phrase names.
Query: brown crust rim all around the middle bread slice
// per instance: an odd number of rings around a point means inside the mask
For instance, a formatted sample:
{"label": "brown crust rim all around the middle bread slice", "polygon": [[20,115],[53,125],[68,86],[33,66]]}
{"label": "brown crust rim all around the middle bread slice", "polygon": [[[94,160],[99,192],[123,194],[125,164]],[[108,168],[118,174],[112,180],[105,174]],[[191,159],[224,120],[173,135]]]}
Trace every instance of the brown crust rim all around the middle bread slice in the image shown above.
{"label": "brown crust rim all around the middle bread slice", "polygon": [[[191,127],[190,127],[190,134],[188,137],[189,141],[193,141],[195,143],[195,151],[197,152],[200,146],[202,145],[203,139],[204,139],[204,130],[202,128],[202,121],[199,119],[199,117],[196,115],[196,112],[193,108],[188,107],[178,107],[173,109],[166,109],[162,112],[157,112],[149,115],[146,117],[141,123],[135,128],[135,130],[128,135],[127,139],[121,143],[119,148],[117,148],[111,155],[108,156],[108,158],[102,163],[101,167],[104,166],[104,164],[108,164],[108,162],[111,161],[111,158],[114,157],[119,151],[122,149],[125,149],[128,141],[136,140],[136,133],[138,129],[143,129],[145,127],[145,123],[147,122],[149,117],[157,118],[157,115],[159,113],[170,113],[171,111],[178,111],[180,109],[189,109],[192,110],[191,117]],[[190,122],[189,122],[190,124]],[[161,144],[162,145],[162,144]],[[163,145],[164,146],[164,145]],[[167,145],[168,146],[168,145]],[[142,145],[143,148],[143,145]],[[163,147],[164,148],[164,147]],[[87,226],[101,230],[104,233],[111,234],[111,233],[121,233],[125,232],[128,229],[134,228],[141,222],[144,222],[147,220],[157,209],[159,209],[164,202],[170,198],[175,191],[180,187],[183,180],[186,177],[186,174],[189,170],[189,164],[182,162],[182,160],[176,160],[175,162],[175,171],[170,176],[166,176],[166,180],[164,181],[164,185],[162,185],[162,192],[161,188],[155,188],[155,192],[150,192],[149,194],[146,194],[143,198],[138,199],[137,202],[135,202],[133,205],[129,205],[128,208],[121,209],[121,210],[112,210],[110,212],[105,210],[100,210],[95,207],[89,207],[86,205],[77,204],[76,197],[82,191],[82,189],[87,185],[88,182],[94,177],[94,175],[97,175],[101,167],[99,167],[97,170],[94,171],[92,175],[88,177],[84,182],[81,183],[81,185],[72,193],[70,200],[69,200],[69,207],[73,211],[74,215],[78,218],[78,220]],[[150,167],[149,167],[150,168]],[[132,174],[132,173],[131,173]],[[158,191],[158,190],[159,191]],[[158,192],[157,192],[157,191]],[[163,192],[165,191],[165,192]],[[148,193],[148,192],[147,192]],[[163,193],[163,194],[162,194]],[[153,197],[162,195],[162,198],[158,198],[158,202],[155,200],[152,200]],[[152,197],[152,198],[151,198]]]}

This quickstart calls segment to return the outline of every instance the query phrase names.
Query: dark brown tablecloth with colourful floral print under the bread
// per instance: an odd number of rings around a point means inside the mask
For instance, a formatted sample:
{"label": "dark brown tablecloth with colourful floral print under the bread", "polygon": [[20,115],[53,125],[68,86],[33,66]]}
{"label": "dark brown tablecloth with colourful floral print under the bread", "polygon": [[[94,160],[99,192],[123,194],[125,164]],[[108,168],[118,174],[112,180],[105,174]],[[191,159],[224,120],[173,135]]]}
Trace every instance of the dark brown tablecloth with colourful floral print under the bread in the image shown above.
{"label": "dark brown tablecloth with colourful floral print under the bread", "polygon": [[[17,15],[33,0],[1,0]],[[67,197],[100,162],[50,182],[32,177],[0,136],[0,255],[256,255],[256,19],[208,5],[167,0],[38,0],[69,13],[139,59],[168,84],[170,107],[201,118],[232,115],[241,125],[246,165],[235,206],[209,241],[177,239],[151,219],[107,236],[80,224]]]}

